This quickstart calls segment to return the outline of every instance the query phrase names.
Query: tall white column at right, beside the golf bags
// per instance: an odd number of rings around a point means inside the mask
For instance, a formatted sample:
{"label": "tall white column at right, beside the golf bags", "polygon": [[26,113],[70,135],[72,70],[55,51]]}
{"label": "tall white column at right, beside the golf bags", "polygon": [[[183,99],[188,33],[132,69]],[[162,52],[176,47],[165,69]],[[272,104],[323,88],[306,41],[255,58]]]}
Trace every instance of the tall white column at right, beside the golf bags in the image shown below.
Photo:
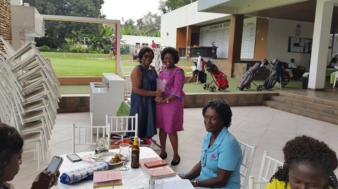
{"label": "tall white column at right, beside the golf bags", "polygon": [[321,90],[325,88],[326,60],[333,6],[333,2],[330,0],[317,1],[308,89]]}

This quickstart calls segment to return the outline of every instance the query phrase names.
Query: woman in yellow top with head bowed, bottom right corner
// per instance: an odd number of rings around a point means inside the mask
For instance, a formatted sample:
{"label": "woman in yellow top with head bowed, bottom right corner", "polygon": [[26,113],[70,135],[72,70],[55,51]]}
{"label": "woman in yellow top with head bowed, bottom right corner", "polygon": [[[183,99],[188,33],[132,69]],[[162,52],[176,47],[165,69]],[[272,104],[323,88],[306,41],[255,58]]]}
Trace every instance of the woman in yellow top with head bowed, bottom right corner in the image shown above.
{"label": "woman in yellow top with head bowed, bottom right corner", "polygon": [[285,162],[267,189],[338,188],[336,152],[310,136],[297,136],[283,148]]}

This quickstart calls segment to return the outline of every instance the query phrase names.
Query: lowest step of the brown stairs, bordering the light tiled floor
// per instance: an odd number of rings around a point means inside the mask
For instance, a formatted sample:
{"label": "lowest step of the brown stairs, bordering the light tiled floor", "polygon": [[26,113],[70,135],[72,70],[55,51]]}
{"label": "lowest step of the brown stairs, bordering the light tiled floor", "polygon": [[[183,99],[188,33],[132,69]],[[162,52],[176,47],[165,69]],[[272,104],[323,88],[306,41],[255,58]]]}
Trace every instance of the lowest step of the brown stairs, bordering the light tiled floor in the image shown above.
{"label": "lowest step of the brown stairs, bordering the light tiled floor", "polygon": [[275,100],[266,100],[263,101],[263,105],[275,108],[277,110],[282,110],[284,112],[290,112],[296,115],[301,115],[304,117],[310,117],[312,119],[318,119],[323,122],[329,122],[331,124],[338,124],[338,115],[330,115],[325,112],[320,112],[317,110],[311,110],[305,107],[299,107],[296,105],[289,105],[286,103],[280,103]]}

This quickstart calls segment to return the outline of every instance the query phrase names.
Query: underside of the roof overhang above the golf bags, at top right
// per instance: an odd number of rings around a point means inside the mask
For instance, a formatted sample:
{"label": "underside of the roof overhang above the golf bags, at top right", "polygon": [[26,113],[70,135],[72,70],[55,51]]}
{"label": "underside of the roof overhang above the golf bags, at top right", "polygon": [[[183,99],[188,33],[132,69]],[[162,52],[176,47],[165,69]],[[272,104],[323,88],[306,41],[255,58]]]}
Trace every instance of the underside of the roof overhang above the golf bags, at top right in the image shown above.
{"label": "underside of the roof overhang above the golf bags, at top right", "polygon": [[[338,0],[331,1],[334,3],[332,27],[338,27]],[[246,16],[315,22],[317,0],[223,0],[220,2],[218,5],[216,3],[212,7],[201,11],[227,14],[239,13]]]}

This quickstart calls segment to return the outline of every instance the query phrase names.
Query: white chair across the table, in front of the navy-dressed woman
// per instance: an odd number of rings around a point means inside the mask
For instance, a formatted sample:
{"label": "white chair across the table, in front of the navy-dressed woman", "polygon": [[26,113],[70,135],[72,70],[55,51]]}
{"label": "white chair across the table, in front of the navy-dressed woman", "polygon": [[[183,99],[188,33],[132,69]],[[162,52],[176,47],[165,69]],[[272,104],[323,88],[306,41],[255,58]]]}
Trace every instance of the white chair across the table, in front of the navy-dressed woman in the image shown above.
{"label": "white chair across the table, in front of the navy-dressed woman", "polygon": [[[125,135],[125,133],[134,133],[134,136],[138,134],[138,117],[134,116],[109,116],[106,114],[106,126],[108,126],[108,138],[111,138],[111,133],[117,133],[118,135]],[[128,125],[132,126],[128,128]]]}

